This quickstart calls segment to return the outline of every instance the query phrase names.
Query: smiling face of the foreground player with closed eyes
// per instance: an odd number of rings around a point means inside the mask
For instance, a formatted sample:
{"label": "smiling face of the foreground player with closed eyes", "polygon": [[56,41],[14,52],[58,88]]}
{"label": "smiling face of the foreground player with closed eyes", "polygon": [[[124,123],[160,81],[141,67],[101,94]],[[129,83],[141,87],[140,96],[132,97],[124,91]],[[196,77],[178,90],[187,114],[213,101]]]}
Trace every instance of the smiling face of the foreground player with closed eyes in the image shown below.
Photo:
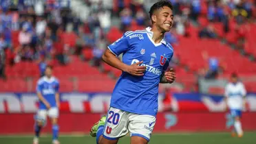
{"label": "smiling face of the foreground player with closed eyes", "polygon": [[164,6],[156,14],[156,25],[163,32],[169,32],[173,26],[173,11],[171,8]]}

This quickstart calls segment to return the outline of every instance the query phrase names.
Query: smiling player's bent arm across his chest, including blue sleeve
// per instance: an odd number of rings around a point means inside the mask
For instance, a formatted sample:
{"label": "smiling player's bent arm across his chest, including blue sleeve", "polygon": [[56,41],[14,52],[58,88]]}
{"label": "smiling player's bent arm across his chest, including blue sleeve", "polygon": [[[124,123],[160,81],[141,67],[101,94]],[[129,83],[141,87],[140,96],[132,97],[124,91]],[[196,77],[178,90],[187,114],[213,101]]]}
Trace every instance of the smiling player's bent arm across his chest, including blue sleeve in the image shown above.
{"label": "smiling player's bent arm across his chest, including blue sleeve", "polygon": [[127,37],[122,36],[122,38],[117,40],[114,44],[109,45],[108,49],[106,49],[106,51],[103,53],[102,59],[111,67],[115,67],[116,69],[120,69],[121,71],[130,73],[131,75],[144,75],[146,67],[139,65],[142,64],[142,61],[135,64],[127,65],[117,57],[120,55],[120,53],[128,51],[129,47],[130,46]]}

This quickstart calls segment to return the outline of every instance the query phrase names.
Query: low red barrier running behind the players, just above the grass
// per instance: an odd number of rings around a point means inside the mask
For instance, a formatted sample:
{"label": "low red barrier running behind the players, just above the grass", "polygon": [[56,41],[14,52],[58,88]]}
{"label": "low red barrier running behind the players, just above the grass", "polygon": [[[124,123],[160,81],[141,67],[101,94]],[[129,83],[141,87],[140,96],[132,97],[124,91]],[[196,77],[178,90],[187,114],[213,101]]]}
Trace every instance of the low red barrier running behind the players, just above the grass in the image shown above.
{"label": "low red barrier running behind the players, just above the grass", "polygon": [[[0,134],[31,134],[34,115],[0,114]],[[171,113],[161,112],[157,116],[153,132],[202,132],[226,131],[231,126],[231,117],[226,113]],[[92,124],[100,119],[100,114],[61,113],[59,119],[61,132],[88,133]],[[244,112],[242,126],[244,130],[256,130],[256,112]],[[48,121],[43,132],[51,132]]]}

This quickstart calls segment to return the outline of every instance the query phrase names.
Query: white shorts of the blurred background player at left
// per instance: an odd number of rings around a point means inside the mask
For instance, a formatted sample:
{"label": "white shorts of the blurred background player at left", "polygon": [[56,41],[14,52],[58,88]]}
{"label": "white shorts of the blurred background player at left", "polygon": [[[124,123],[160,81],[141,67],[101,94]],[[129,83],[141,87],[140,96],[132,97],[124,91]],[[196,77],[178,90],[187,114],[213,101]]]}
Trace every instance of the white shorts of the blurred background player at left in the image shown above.
{"label": "white shorts of the blurred background player at left", "polygon": [[43,122],[46,125],[47,116],[50,118],[58,118],[58,108],[50,108],[49,110],[38,110],[36,113],[36,121]]}

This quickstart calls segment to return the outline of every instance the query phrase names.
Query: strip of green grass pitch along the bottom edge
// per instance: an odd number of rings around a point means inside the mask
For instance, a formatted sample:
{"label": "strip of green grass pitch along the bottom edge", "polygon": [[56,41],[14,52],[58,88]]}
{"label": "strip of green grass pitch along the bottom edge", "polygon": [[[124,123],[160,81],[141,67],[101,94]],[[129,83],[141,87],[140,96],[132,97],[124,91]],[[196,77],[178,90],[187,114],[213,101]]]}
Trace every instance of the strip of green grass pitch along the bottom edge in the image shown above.
{"label": "strip of green grass pitch along the bottom edge", "polygon": [[[61,144],[96,144],[88,135],[61,135]],[[1,144],[32,144],[32,135],[0,136]],[[51,135],[43,135],[39,144],[51,144]],[[231,137],[227,132],[153,134],[150,144],[256,144],[256,132],[246,132],[244,137]],[[129,144],[129,136],[118,144]]]}

